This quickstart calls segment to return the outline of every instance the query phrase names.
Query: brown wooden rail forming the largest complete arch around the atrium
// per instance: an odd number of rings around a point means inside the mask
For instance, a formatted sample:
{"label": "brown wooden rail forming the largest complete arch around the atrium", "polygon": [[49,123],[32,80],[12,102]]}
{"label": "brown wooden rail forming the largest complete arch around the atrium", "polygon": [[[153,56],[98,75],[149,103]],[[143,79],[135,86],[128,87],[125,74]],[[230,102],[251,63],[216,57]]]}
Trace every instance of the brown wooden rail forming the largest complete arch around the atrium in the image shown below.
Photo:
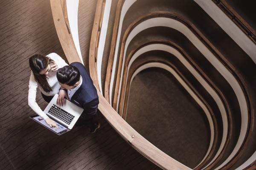
{"label": "brown wooden rail forming the largest complete arch around the atrium", "polygon": [[[187,22],[185,22],[183,19],[181,19],[180,17],[174,16],[172,14],[172,12],[166,12],[166,11],[156,11],[153,12],[151,14],[145,15],[143,17],[140,17],[139,19],[137,19],[136,21],[134,21],[134,23],[132,23],[128,29],[125,31],[125,34],[123,36],[122,39],[122,43],[121,43],[121,52],[120,52],[120,57],[119,57],[119,64],[118,64],[118,73],[117,73],[117,78],[116,78],[116,87],[115,87],[115,95],[114,95],[114,102],[113,102],[113,108],[117,108],[117,95],[119,94],[119,83],[120,83],[120,78],[121,78],[121,64],[122,64],[122,59],[123,59],[123,52],[124,52],[124,45],[125,45],[125,41],[126,38],[128,37],[128,34],[130,33],[131,29],[134,28],[136,26],[136,24],[142,22],[143,20],[146,20],[149,17],[149,15],[152,15],[153,17],[159,17],[160,15],[162,15],[163,17],[175,17],[176,20],[179,20],[182,23],[185,23],[185,25],[188,25]],[[228,162],[228,164],[226,164],[225,166],[231,166],[233,164],[233,162],[235,162],[237,159],[239,159],[239,157],[241,156],[242,152],[244,150],[244,147],[246,147],[246,144],[249,142],[250,137],[247,138],[247,136],[251,136],[252,130],[253,130],[253,125],[250,123],[253,120],[253,116],[251,116],[250,114],[250,108],[252,103],[249,102],[249,94],[247,93],[247,89],[244,85],[244,81],[243,78],[241,76],[239,76],[239,73],[235,72],[235,69],[233,68],[233,66],[227,62],[227,60],[225,59],[225,57],[212,45],[211,42],[209,42],[209,40],[207,40],[206,37],[204,37],[203,34],[201,34],[200,31],[198,31],[197,28],[195,28],[195,26],[193,26],[192,24],[189,25],[189,28],[193,31],[193,33],[195,33],[195,35],[197,37],[199,37],[199,39],[204,43],[204,45],[206,45],[206,47],[213,53],[215,54],[215,56],[219,59],[220,62],[223,63],[223,65],[228,65],[229,67],[227,67],[228,71],[230,71],[231,74],[233,74],[233,76],[236,78],[236,80],[238,80],[238,83],[241,87],[241,90],[243,91],[243,93],[245,94],[245,100],[247,103],[247,109],[249,110],[249,118],[250,120],[248,121],[248,126],[247,126],[247,133],[245,134],[245,137],[243,139],[243,142],[241,143],[241,147],[238,150],[238,154],[236,154],[236,156],[234,157],[234,159],[230,160]],[[118,49],[116,49],[118,50]],[[223,152],[221,153],[222,155],[224,154]],[[216,163],[216,162],[215,162]],[[210,166],[210,168],[212,168],[212,165]]]}

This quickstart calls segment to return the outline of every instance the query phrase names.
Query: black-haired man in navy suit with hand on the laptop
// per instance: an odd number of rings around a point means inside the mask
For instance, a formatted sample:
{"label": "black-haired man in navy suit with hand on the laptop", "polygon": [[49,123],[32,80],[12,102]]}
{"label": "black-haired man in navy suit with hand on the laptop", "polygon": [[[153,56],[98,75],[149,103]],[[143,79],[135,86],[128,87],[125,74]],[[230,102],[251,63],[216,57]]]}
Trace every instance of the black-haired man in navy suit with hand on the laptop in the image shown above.
{"label": "black-haired man in navy suit with hand on the laptop", "polygon": [[84,108],[76,125],[84,124],[90,128],[91,133],[94,133],[100,127],[100,123],[95,121],[99,97],[84,65],[80,62],[73,62],[59,68],[56,76],[61,85],[57,104],[63,105],[64,98],[67,98],[70,102]]}

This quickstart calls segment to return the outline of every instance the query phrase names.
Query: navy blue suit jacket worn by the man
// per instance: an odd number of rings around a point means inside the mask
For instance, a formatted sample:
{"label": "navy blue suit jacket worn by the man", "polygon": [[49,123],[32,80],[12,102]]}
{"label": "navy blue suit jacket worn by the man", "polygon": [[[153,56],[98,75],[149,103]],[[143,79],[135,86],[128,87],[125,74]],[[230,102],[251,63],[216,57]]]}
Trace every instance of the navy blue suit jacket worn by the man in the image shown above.
{"label": "navy blue suit jacket worn by the man", "polygon": [[71,97],[70,102],[84,108],[81,118],[95,115],[99,105],[99,96],[95,86],[93,85],[93,80],[90,78],[90,75],[86,71],[84,65],[80,62],[72,62],[70,65],[78,68],[83,79],[80,88]]}

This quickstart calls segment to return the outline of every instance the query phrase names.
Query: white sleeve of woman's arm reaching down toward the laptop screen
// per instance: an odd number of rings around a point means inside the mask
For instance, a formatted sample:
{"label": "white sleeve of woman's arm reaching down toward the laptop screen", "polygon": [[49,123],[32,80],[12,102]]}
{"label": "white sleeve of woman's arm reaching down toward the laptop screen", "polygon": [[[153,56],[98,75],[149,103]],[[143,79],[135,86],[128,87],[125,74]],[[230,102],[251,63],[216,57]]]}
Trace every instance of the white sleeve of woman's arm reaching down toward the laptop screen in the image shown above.
{"label": "white sleeve of woman's arm reaching down toward the laptop screen", "polygon": [[32,108],[33,111],[35,111],[35,113],[37,113],[44,120],[46,120],[49,117],[47,116],[47,114],[44,113],[44,111],[41,110],[37,102],[35,102],[37,87],[38,87],[38,84],[35,81],[35,77],[33,73],[31,72],[30,79],[29,79],[29,96],[28,96],[29,106],[30,108]]}

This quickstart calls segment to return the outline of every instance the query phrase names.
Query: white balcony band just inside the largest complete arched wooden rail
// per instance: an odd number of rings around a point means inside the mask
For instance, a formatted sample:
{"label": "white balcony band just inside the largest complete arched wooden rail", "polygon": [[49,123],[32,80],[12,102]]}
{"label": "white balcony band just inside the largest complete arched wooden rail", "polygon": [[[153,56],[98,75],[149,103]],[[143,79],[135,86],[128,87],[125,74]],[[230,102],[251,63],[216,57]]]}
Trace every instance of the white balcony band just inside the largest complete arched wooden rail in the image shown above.
{"label": "white balcony band just inside the largest complete arched wooden rail", "polygon": [[[183,23],[180,23],[177,20],[174,20],[172,18],[165,18],[165,17],[156,17],[156,18],[151,18],[148,20],[143,21],[142,23],[138,24],[136,27],[133,28],[133,30],[130,32],[130,34],[127,37],[127,40],[125,41],[125,49],[124,49],[124,54],[123,56],[126,55],[127,47],[133,37],[137,35],[140,31],[145,30],[146,28],[151,28],[155,26],[166,26],[169,28],[174,28],[177,31],[180,31],[182,34],[184,34],[190,42],[192,42],[193,45],[195,45],[196,48],[206,57],[206,59],[219,71],[219,73],[227,80],[227,82],[230,84],[230,86],[233,88],[233,91],[235,92],[237,99],[239,101],[239,106],[241,110],[241,130],[240,130],[240,135],[238,142],[233,150],[233,152],[230,154],[228,159],[224,161],[224,164],[229,162],[233,156],[236,155],[238,152],[239,148],[241,147],[246,131],[247,131],[247,124],[248,124],[248,109],[247,109],[247,102],[244,96],[244,93],[239,85],[239,82],[237,82],[236,78],[230,73],[230,71],[227,70],[227,68],[215,57],[214,54],[204,45],[203,42],[201,42],[198,37],[193,34],[193,32],[187,28]],[[122,70],[121,70],[121,79],[119,84],[122,84],[122,77],[123,77],[123,68],[124,68],[124,61],[123,59],[122,62]],[[120,91],[121,91],[121,86],[119,86],[119,93],[118,93],[118,100],[117,100],[117,106],[119,105],[119,98],[120,98]],[[218,100],[217,100],[218,101]],[[221,105],[221,103],[217,103],[217,105]],[[117,108],[118,110],[118,108]],[[227,125],[224,125],[227,126]],[[223,136],[227,136],[227,131],[224,132]],[[221,143],[221,150],[224,147],[224,143]],[[221,152],[219,150],[218,153]],[[215,156],[214,159],[207,165],[209,166],[215,159],[217,159],[217,155]],[[222,164],[224,166],[224,164]]]}

